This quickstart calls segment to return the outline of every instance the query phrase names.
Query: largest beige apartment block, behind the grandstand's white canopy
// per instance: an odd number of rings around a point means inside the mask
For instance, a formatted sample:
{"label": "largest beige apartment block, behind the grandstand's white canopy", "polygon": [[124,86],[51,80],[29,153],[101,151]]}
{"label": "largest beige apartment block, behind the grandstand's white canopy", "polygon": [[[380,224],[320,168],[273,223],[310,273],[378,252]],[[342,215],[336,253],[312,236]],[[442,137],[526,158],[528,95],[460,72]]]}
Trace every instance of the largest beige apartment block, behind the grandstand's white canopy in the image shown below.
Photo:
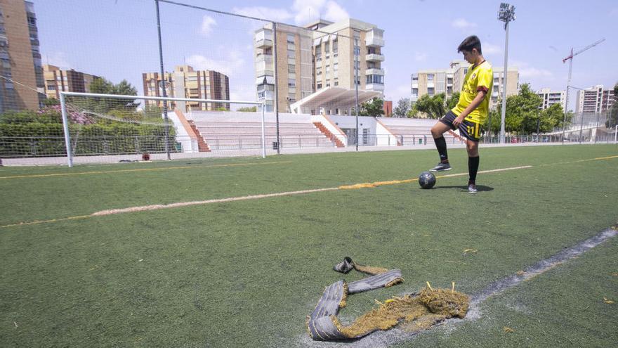
{"label": "largest beige apartment block, behind the grandstand's white canopy", "polygon": [[[273,39],[270,24],[254,34],[256,92],[258,100],[265,100],[267,111],[274,110],[275,103]],[[292,103],[328,87],[354,89],[355,50],[359,89],[384,90],[383,30],[376,25],[351,18],[336,23],[318,20],[305,27],[277,24],[276,46],[277,106],[282,112],[290,112]]]}

